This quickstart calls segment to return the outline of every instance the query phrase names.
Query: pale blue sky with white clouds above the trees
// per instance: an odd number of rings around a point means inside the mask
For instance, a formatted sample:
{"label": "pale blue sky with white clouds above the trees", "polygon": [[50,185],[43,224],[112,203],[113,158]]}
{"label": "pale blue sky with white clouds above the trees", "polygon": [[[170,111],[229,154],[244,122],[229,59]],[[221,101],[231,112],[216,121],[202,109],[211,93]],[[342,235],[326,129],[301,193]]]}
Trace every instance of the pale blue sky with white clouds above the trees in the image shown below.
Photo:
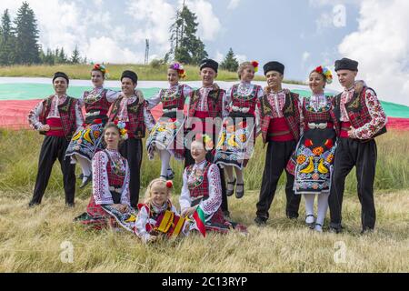
{"label": "pale blue sky with white clouds above the trees", "polygon": [[[183,0],[26,0],[45,48],[79,46],[95,62],[143,63],[169,49],[169,25]],[[1,0],[14,17],[20,0]],[[199,36],[220,61],[233,47],[240,61],[278,60],[285,77],[305,80],[317,65],[347,56],[385,101],[409,105],[407,0],[186,0]],[[261,70],[262,71],[262,70]],[[334,89],[339,89],[336,80]]]}

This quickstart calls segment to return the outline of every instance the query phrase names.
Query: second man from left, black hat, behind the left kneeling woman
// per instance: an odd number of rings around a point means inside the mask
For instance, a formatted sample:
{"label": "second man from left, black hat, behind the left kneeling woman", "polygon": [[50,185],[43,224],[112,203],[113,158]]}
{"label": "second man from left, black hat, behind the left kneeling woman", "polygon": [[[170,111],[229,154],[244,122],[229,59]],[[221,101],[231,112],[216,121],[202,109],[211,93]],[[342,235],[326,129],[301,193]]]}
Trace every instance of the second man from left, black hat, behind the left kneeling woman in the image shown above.
{"label": "second man from left, black hat, behind the left kneeling woman", "polygon": [[125,123],[128,138],[119,146],[119,152],[124,156],[130,168],[129,192],[131,206],[136,208],[139,201],[139,190],[141,186],[141,166],[143,144],[146,127],[149,131],[155,126],[155,118],[148,109],[148,103],[140,102],[143,93],[135,90],[138,76],[133,71],[125,71],[121,77],[122,93],[125,96],[116,100],[110,121],[121,121]]}

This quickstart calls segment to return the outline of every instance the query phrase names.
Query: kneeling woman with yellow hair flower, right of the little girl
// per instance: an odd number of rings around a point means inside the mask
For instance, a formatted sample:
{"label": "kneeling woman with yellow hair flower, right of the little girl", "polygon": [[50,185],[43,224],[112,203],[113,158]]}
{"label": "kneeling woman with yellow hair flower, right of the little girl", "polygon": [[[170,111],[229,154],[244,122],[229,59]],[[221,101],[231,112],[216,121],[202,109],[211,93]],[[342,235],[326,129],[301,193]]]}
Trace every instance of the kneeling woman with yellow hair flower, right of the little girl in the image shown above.
{"label": "kneeling woman with yellow hair flower, right of the little girl", "polygon": [[[184,186],[180,196],[182,216],[192,217],[198,207],[205,213],[205,231],[227,233],[237,229],[244,233],[246,227],[224,219],[221,209],[222,185],[219,168],[206,161],[206,149],[213,149],[210,136],[196,135],[191,152],[195,165],[188,166],[184,172]],[[193,225],[192,228],[197,228]]]}

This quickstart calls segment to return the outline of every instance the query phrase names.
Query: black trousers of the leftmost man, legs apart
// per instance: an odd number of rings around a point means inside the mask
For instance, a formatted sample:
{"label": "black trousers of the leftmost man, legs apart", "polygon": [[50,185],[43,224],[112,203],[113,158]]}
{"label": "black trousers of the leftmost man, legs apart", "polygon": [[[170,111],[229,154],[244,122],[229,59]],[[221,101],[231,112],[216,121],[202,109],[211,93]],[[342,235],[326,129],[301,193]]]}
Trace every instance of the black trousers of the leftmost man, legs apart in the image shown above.
{"label": "black trousers of the leftmost man, legs apart", "polygon": [[41,146],[35,191],[31,200],[32,204],[41,203],[56,159],[60,162],[61,171],[63,172],[65,203],[74,204],[75,165],[71,164],[70,158],[65,158],[65,151],[68,145],[69,141],[65,137],[45,136],[43,146]]}

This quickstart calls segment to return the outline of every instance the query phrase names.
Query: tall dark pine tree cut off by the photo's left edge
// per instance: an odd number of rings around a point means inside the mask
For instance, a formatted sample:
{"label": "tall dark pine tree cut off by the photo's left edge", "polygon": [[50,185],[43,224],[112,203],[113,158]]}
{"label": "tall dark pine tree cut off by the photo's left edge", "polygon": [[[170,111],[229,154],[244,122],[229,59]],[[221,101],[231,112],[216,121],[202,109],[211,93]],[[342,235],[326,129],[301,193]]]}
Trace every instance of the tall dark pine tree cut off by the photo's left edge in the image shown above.
{"label": "tall dark pine tree cut off by the photo's left edge", "polygon": [[15,35],[8,9],[6,9],[0,27],[0,65],[13,65],[14,63]]}

